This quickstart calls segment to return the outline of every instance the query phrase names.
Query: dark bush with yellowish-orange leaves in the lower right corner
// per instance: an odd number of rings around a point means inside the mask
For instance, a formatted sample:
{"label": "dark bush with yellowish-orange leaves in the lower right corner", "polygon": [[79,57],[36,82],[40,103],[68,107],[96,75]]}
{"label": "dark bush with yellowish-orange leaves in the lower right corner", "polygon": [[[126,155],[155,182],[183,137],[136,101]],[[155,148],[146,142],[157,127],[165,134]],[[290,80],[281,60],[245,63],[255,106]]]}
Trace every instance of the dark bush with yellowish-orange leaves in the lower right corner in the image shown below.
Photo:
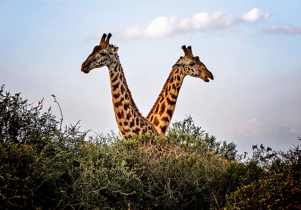
{"label": "dark bush with yellowish-orange leaves in the lower right corner", "polygon": [[[252,181],[227,196],[226,210],[301,209],[301,150],[287,152],[253,146],[247,167],[257,168]],[[254,167],[254,164],[256,165]],[[259,169],[259,170],[258,170]],[[249,175],[250,176],[250,175]],[[247,182],[248,183],[248,182]]]}

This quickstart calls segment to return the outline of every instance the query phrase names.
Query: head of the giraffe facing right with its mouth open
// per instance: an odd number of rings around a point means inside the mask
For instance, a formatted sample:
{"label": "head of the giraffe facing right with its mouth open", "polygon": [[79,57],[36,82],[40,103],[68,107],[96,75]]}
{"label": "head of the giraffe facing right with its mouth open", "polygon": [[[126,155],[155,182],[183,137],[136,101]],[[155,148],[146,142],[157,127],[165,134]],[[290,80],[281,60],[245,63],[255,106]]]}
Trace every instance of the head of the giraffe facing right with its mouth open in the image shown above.
{"label": "head of the giraffe facing right with its mouth open", "polygon": [[172,66],[174,69],[179,69],[185,75],[193,77],[199,77],[205,82],[209,82],[210,78],[213,80],[213,74],[206,68],[206,66],[200,61],[199,56],[192,54],[191,46],[182,46],[185,56],[181,56],[178,61]]}

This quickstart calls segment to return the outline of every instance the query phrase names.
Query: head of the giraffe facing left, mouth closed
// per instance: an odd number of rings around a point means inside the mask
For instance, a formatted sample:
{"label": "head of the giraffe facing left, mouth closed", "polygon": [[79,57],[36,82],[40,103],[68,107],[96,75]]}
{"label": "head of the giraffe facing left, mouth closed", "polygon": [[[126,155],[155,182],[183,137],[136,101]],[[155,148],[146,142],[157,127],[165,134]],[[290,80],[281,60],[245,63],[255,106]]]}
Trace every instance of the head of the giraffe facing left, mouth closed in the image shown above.
{"label": "head of the giraffe facing left, mouth closed", "polygon": [[118,47],[109,44],[111,36],[110,33],[107,36],[106,34],[102,35],[100,45],[95,46],[93,52],[82,64],[81,70],[84,73],[89,73],[94,68],[111,65],[113,56],[118,51]]}

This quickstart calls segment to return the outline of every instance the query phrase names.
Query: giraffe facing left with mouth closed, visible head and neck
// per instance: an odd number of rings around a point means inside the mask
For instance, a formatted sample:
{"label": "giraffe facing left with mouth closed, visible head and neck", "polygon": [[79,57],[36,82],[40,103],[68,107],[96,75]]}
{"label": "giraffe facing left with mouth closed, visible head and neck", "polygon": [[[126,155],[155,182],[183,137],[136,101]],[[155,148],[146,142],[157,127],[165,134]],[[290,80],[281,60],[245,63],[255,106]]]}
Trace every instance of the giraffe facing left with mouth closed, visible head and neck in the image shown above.
{"label": "giraffe facing left with mouth closed, visible head and neck", "polygon": [[94,68],[107,66],[115,118],[124,138],[142,133],[159,136],[153,124],[142,116],[132,98],[117,54],[118,47],[109,44],[111,36],[110,33],[107,36],[102,35],[100,45],[97,45],[83,62],[81,71],[89,73]]}

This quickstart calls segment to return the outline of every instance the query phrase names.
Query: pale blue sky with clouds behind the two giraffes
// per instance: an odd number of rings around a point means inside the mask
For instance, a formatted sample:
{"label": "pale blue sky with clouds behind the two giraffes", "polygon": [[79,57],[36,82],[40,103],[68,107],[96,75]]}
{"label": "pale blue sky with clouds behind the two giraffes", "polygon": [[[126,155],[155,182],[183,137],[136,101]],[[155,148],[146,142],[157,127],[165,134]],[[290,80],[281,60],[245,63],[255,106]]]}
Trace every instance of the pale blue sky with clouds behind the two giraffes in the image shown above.
{"label": "pale blue sky with clouds behind the two giraffes", "polygon": [[54,94],[64,124],[118,131],[107,68],[80,71],[109,32],[143,115],[191,45],[214,80],[186,77],[172,121],[191,114],[240,153],[300,144],[300,0],[0,0],[0,83],[59,118]]}

